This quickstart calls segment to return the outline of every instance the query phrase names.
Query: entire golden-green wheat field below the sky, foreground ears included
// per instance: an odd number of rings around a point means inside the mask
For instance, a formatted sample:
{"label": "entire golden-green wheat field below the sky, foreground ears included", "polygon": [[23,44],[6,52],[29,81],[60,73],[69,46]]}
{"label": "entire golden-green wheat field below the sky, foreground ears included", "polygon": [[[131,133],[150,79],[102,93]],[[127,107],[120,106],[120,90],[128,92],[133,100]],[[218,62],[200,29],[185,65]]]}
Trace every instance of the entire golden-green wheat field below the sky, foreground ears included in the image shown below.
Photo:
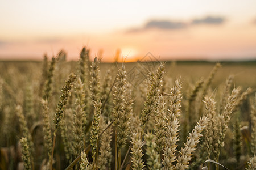
{"label": "entire golden-green wheat field below the sky, foreground ears included", "polygon": [[83,48],[0,73],[0,169],[256,168],[255,61],[101,63]]}

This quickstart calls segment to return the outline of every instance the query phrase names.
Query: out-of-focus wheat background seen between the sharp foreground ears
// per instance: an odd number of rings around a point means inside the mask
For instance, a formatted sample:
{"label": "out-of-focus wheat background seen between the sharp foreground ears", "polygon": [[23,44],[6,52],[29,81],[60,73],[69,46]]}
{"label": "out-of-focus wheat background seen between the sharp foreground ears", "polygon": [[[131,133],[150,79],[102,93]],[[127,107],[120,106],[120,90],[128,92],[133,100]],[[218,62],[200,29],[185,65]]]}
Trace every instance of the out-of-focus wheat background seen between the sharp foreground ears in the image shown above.
{"label": "out-of-focus wheat background seen between the sharp foreground ears", "polygon": [[[89,62],[90,63],[90,62]],[[249,97],[243,101],[240,109],[236,113],[236,116],[232,117],[234,122],[237,118],[241,127],[251,126],[250,118],[250,103],[253,101],[254,92],[256,88],[256,62],[220,62],[221,67],[217,70],[212,83],[210,83],[208,95],[214,97],[218,105],[220,104],[220,97],[225,88],[225,81],[229,75],[234,76],[233,87],[241,87],[242,91],[245,91],[248,87],[253,89],[253,92]],[[134,97],[134,112],[140,114],[143,109],[143,103],[146,100],[146,89],[149,86],[147,80],[148,71],[156,69],[159,62],[134,62],[134,63],[100,63],[100,77],[101,86],[104,83],[107,70],[110,71],[112,77],[111,86],[114,83],[117,71],[121,68],[122,64],[126,66],[127,79],[133,85],[131,90],[133,91]],[[214,62],[205,61],[167,61],[166,75],[163,78],[163,86],[161,91],[170,92],[170,88],[174,86],[176,79],[180,80],[182,84],[182,113],[181,113],[181,135],[180,141],[178,142],[179,147],[184,142],[187,133],[184,133],[183,123],[184,118],[187,115],[187,105],[189,95],[196,86],[196,83],[200,80],[206,80],[211,73],[213,67],[216,65]],[[45,150],[43,148],[43,134],[42,134],[42,93],[44,88],[45,75],[43,70],[47,68],[41,61],[1,61],[0,62],[0,79],[2,87],[2,99],[1,99],[1,114],[0,114],[0,132],[1,132],[1,166],[9,167],[10,169],[16,169],[19,163],[22,163],[19,139],[22,136],[22,129],[20,129],[19,122],[16,117],[15,107],[16,105],[22,105],[24,114],[26,115],[28,127],[34,141],[35,146],[35,167],[39,168],[44,163]],[[134,70],[137,70],[137,72]],[[65,61],[65,59],[59,59],[56,63],[56,69],[53,72],[52,82],[52,95],[49,98],[49,113],[51,118],[56,109],[57,101],[59,100],[60,90],[64,84],[64,80],[68,78],[69,73],[77,73],[81,76],[79,71],[79,64],[77,61]],[[88,70],[89,73],[89,70]],[[135,79],[133,76],[136,76]],[[139,81],[137,81],[139,80]],[[135,81],[135,82],[134,82]],[[72,91],[73,93],[73,91]],[[112,93],[111,93],[112,94]],[[197,94],[195,103],[193,103],[193,109],[191,112],[196,113],[200,109],[200,105],[203,104],[201,100],[202,96]],[[90,96],[90,94],[85,94]],[[72,94],[71,99],[68,101],[67,112],[72,108],[72,103],[75,100]],[[168,101],[167,101],[168,102]],[[113,105],[110,104],[110,109]],[[195,109],[195,110],[194,110]],[[190,116],[191,117],[191,116]],[[193,126],[198,121],[199,115],[193,115],[193,119],[190,120],[190,125]],[[248,133],[247,129],[246,133]],[[225,164],[226,167],[232,168],[234,163],[237,161],[234,154],[234,143],[233,143],[233,124],[230,125],[230,129],[226,134],[225,138],[225,149],[221,152],[220,163]],[[71,131],[69,132],[71,133]],[[241,153],[240,162],[237,163],[239,167],[246,167],[246,161],[248,155],[250,155],[250,137],[248,134],[243,134],[241,138]],[[249,134],[250,136],[250,134]],[[57,141],[61,141],[61,137],[57,137]],[[238,139],[240,140],[240,139]],[[122,155],[125,153],[122,153]],[[198,156],[199,153],[196,153]],[[55,153],[56,169],[63,169],[69,164],[64,158],[64,145],[63,143],[56,143]],[[113,164],[113,163],[112,163]],[[42,168],[42,167],[41,167]]]}

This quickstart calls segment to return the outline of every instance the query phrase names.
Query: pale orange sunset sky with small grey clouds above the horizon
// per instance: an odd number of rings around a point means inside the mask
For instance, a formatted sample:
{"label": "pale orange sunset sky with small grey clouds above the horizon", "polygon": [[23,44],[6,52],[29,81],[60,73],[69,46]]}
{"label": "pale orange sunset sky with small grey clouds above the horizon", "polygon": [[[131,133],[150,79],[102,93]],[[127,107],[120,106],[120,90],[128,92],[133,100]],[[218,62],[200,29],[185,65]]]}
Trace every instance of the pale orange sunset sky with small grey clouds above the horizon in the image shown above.
{"label": "pale orange sunset sky with small grey clouds above the horizon", "polygon": [[255,0],[0,1],[0,59],[256,59]]}

